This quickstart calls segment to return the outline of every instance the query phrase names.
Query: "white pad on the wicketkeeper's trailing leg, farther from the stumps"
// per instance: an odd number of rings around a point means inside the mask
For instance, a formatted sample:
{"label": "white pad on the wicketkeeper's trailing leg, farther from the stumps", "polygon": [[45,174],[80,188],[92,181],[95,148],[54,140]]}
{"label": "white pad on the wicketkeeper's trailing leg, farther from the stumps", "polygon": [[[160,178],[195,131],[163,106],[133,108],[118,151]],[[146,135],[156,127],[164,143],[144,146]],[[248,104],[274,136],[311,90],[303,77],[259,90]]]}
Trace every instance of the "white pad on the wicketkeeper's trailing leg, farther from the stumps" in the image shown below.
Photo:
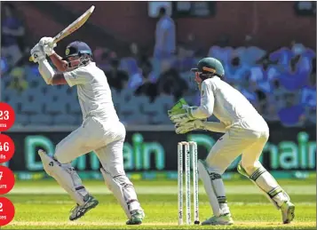
{"label": "white pad on the wicketkeeper's trailing leg, farther from the stumps", "polygon": [[267,199],[273,203],[276,209],[280,210],[280,207],[284,202],[289,202],[289,194],[279,186],[271,173],[266,171],[262,165],[255,169],[250,176],[247,171],[243,169],[242,163],[238,164],[237,170],[243,176],[250,178],[250,180],[265,194]]}

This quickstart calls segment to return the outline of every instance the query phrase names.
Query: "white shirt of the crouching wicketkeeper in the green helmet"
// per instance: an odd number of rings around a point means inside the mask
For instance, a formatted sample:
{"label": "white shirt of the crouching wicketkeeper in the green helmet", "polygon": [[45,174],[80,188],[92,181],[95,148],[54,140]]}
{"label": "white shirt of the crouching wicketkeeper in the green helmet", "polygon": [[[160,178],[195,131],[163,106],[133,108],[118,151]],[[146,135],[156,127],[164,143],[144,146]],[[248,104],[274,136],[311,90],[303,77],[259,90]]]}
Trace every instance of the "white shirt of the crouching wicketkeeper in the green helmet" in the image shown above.
{"label": "white shirt of the crouching wicketkeeper in the green helmet", "polygon": [[204,119],[215,115],[226,126],[235,124],[256,131],[267,129],[265,120],[249,100],[218,76],[202,82],[201,94],[201,105],[193,111],[194,117]]}

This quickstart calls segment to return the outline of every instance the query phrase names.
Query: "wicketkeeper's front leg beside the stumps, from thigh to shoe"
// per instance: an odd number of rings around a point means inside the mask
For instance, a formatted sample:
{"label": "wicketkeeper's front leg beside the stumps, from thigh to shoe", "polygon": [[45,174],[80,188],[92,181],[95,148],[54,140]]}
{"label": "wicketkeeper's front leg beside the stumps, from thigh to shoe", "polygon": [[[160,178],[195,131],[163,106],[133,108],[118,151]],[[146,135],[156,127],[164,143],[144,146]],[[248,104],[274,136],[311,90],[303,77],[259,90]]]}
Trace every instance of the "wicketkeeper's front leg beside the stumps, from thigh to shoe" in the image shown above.
{"label": "wicketkeeper's front leg beside the stumps, from thigh to shoe", "polygon": [[236,133],[234,130],[226,132],[211,148],[206,160],[198,162],[199,177],[202,179],[213,211],[213,216],[203,221],[202,225],[234,224],[221,177],[234,159],[242,154],[243,149],[254,141],[252,133]]}

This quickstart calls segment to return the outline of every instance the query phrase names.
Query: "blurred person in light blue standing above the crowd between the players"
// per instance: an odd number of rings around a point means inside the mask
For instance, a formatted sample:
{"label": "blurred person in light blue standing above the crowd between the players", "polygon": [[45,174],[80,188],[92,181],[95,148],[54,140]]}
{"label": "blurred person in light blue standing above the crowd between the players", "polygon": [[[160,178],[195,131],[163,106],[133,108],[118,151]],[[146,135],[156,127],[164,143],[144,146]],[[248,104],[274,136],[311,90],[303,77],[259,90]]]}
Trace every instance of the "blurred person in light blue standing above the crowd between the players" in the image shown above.
{"label": "blurred person in light blue standing above the crowd between the players", "polygon": [[160,8],[159,18],[155,28],[154,56],[157,59],[169,59],[176,52],[175,23],[164,7]]}

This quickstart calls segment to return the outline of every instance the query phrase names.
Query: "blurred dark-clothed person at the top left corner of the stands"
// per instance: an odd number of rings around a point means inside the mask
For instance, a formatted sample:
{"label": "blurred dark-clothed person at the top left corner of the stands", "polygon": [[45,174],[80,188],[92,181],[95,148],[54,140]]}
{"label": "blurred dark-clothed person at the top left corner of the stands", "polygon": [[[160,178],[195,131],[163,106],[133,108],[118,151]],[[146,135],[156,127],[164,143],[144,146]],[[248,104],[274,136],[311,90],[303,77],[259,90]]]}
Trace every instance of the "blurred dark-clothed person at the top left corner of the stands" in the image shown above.
{"label": "blurred dark-clothed person at the top left corner of the stands", "polygon": [[22,58],[20,46],[23,46],[21,41],[24,39],[25,28],[12,4],[5,3],[1,15],[1,52],[12,67]]}

